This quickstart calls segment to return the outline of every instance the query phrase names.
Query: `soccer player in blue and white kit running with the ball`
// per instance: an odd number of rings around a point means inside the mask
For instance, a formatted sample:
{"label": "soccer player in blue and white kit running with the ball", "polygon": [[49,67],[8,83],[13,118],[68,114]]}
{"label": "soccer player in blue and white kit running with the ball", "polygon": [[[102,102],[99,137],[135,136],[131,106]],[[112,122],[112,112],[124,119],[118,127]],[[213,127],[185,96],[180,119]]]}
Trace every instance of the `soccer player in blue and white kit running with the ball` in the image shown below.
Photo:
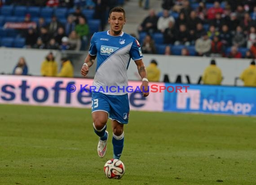
{"label": "soccer player in blue and white kit running with the ball", "polygon": [[[109,31],[94,33],[85,58],[81,74],[85,77],[89,67],[97,56],[96,74],[92,93],[92,117],[94,132],[100,137],[97,152],[100,158],[106,155],[106,145],[109,137],[106,131],[108,118],[111,119],[113,130],[114,159],[121,157],[124,147],[124,124],[128,123],[129,101],[125,92],[128,86],[127,69],[131,58],[135,61],[142,79],[141,93],[149,95],[146,67],[142,62],[141,46],[136,38],[124,33],[126,22],[123,8],[115,7],[110,10],[108,22]],[[107,89],[114,86],[115,88]],[[99,91],[104,88],[104,91]]]}

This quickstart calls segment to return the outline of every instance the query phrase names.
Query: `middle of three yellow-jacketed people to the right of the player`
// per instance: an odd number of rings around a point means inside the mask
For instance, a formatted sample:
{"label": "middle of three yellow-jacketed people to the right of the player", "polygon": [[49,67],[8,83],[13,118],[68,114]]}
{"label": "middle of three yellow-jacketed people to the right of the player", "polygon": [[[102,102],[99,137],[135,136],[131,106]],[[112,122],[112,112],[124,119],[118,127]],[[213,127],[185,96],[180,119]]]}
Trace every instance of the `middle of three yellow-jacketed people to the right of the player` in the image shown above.
{"label": "middle of three yellow-jacketed people to the right of the player", "polygon": [[212,60],[210,66],[208,66],[202,76],[203,84],[206,85],[221,85],[222,81],[221,69],[216,66],[216,61]]}

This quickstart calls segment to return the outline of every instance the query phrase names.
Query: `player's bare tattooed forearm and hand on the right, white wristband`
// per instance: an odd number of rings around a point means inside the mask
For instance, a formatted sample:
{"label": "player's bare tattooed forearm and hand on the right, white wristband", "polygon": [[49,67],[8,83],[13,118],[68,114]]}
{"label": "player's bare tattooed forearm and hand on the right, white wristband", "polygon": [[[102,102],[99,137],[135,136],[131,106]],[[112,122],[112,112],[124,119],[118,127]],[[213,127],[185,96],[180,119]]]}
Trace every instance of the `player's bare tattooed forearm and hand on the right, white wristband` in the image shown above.
{"label": "player's bare tattooed forearm and hand on the right, white wristband", "polygon": [[141,92],[143,97],[147,97],[149,95],[149,89],[148,89],[148,80],[147,80],[147,71],[144,63],[142,62],[142,59],[135,61],[138,72],[141,76],[142,79],[142,84],[141,84]]}

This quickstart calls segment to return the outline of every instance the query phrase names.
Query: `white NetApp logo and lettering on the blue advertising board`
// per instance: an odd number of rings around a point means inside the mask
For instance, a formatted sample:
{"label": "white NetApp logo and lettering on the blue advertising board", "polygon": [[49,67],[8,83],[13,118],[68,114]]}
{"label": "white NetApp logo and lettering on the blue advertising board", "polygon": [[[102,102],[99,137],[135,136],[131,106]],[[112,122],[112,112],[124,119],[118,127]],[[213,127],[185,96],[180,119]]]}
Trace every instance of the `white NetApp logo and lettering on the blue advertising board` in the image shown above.
{"label": "white NetApp logo and lettering on the blue advertising board", "polygon": [[252,110],[253,104],[227,101],[214,101],[203,98],[201,105],[201,91],[188,90],[187,93],[177,93],[177,109],[180,110],[201,110],[206,112],[233,112],[234,114],[247,114]]}

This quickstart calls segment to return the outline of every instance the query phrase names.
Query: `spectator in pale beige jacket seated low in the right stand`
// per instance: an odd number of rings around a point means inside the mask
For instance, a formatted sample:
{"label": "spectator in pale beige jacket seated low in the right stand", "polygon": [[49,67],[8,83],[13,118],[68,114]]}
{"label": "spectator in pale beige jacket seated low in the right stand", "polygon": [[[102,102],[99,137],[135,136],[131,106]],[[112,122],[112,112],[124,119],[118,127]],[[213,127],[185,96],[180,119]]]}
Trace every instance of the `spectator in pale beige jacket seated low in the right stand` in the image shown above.
{"label": "spectator in pale beige jacket seated low in the right stand", "polygon": [[195,51],[198,56],[209,56],[212,46],[212,40],[209,39],[205,32],[203,36],[195,41]]}

